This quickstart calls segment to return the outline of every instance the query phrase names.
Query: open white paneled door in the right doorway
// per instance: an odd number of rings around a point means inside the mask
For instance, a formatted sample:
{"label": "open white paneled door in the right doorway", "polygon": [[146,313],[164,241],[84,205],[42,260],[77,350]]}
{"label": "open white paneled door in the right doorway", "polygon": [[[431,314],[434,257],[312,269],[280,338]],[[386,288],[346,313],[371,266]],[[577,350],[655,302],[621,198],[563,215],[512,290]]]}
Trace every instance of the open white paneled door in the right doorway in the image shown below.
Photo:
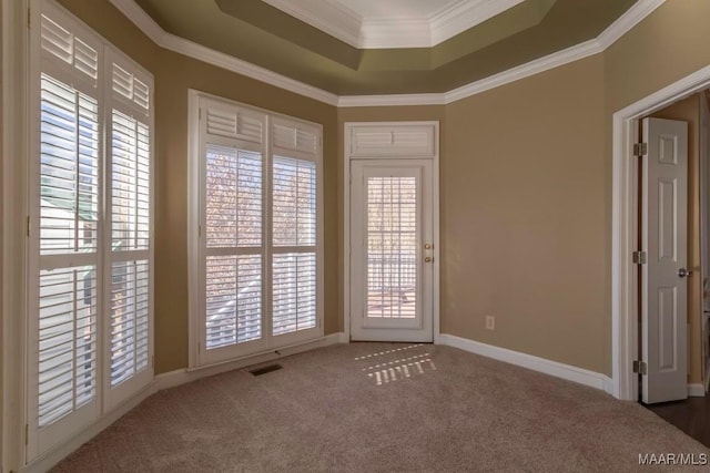
{"label": "open white paneled door in the right doorway", "polygon": [[688,397],[688,124],[645,119],[641,269],[645,403]]}

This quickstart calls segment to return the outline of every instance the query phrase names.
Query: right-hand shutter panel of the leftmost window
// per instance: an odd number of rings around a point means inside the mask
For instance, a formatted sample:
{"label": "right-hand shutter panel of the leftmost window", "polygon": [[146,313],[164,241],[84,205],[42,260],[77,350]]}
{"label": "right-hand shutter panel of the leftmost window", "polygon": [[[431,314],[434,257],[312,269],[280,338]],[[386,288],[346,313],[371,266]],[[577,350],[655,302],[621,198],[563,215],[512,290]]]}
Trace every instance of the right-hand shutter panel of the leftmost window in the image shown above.
{"label": "right-hand shutter panel of the leftmost window", "polygon": [[149,343],[152,79],[114,51],[106,51],[105,63],[111,84],[106,101],[111,249],[108,399],[109,404],[115,405],[152,378]]}

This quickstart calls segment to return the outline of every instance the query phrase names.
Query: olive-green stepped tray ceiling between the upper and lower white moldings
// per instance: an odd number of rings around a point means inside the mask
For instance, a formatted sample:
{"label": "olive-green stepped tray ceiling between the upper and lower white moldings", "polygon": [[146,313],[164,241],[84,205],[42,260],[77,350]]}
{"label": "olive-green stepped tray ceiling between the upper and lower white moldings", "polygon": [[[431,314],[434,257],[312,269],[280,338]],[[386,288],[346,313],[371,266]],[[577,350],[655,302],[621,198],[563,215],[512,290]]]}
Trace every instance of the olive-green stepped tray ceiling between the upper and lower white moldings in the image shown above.
{"label": "olive-green stepped tray ceiling between the upper and lower white moldings", "polygon": [[[171,34],[334,94],[372,95],[442,93],[510,70],[597,38],[636,0],[135,2]],[[313,2],[332,7],[324,8],[325,19],[323,14],[320,20],[313,16],[305,18]],[[303,11],[286,12],[285,3],[298,4]],[[434,38],[440,33],[434,33],[433,24],[437,24],[434,20],[456,11],[453,18],[463,21],[463,8],[468,11],[477,8],[481,13],[484,7],[505,10],[489,17],[478,14],[475,20],[471,20],[475,16],[466,17],[468,23],[460,32],[435,43]],[[351,21],[349,33],[345,27],[337,27],[334,18]],[[362,28],[368,21],[405,24],[405,20],[419,25],[427,23],[430,34],[420,37],[434,45],[353,45],[355,35],[362,41]],[[460,28],[460,21],[458,24]],[[339,37],[328,29],[339,31]],[[448,31],[453,31],[450,24]],[[341,38],[344,35],[349,35],[349,40]],[[389,34],[389,40],[395,35]]]}

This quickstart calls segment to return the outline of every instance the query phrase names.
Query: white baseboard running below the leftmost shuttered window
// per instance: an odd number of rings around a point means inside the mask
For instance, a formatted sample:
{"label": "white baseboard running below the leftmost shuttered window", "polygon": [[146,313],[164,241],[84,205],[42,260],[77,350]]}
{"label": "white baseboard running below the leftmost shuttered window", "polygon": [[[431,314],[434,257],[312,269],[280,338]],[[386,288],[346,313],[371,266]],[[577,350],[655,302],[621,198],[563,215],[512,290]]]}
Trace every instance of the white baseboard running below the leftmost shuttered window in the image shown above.
{"label": "white baseboard running below the leftmost shuttered window", "polygon": [[95,423],[88,426],[82,432],[69,439],[65,443],[62,443],[49,452],[44,453],[32,463],[27,466],[20,469],[21,473],[43,473],[49,471],[57,463],[64,460],[69,456],[74,450],[79,449],[84,443],[89,442],[91,439],[97,436],[101,431],[105,428],[121,419],[124,414],[126,414],[130,410],[135,408],[138,404],[143,402],[149,395],[154,394],[156,392],[154,382],[149,383],[145,388],[143,388],[138,394],[133,395],[131,399],[126,400],[124,403],[116,407],[111,412],[108,412],[101,419],[99,419]]}

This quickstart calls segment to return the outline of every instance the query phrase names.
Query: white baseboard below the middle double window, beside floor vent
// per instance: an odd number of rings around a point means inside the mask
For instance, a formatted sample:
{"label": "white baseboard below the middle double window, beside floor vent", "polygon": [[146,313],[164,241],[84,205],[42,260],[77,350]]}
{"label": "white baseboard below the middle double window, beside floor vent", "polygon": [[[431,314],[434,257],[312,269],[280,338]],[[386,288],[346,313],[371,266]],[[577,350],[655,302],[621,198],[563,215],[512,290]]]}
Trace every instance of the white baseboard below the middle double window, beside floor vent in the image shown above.
{"label": "white baseboard below the middle double window, beside floor vent", "polygon": [[314,348],[344,343],[344,341],[342,341],[343,339],[343,332],[329,333],[325,337],[318,338],[317,340],[307,341],[287,348],[280,348],[278,353],[276,353],[274,350],[271,350],[263,353],[250,354],[248,357],[240,358],[226,363],[219,363],[200,368],[183,368],[180,370],[169,371],[166,373],[158,374],[153,382],[155,383],[156,391],[162,391],[163,389],[175,388],[202,378],[212,377],[226,371],[237,370],[240,368],[248,367],[252,364],[265,363],[267,361],[277,360],[291,354],[313,350]]}

